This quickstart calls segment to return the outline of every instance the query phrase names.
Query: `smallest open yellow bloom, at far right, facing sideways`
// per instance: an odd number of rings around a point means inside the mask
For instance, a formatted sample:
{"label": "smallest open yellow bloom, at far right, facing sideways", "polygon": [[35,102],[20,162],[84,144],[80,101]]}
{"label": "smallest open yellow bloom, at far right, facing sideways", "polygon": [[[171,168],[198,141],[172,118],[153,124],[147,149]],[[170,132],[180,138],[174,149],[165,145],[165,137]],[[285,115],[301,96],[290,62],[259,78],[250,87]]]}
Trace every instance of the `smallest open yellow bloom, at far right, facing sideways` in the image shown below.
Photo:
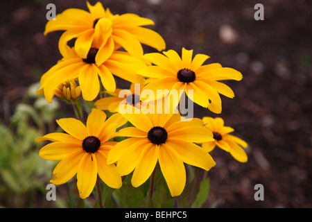
{"label": "smallest open yellow bloom, at far right, facing sideways", "polygon": [[239,137],[229,135],[229,133],[234,132],[233,128],[224,126],[224,121],[220,117],[216,117],[215,119],[211,117],[203,117],[202,121],[205,124],[205,128],[211,130],[214,134],[214,141],[202,144],[202,148],[205,151],[211,152],[216,146],[218,146],[224,151],[229,152],[235,160],[239,162],[247,162],[248,157],[243,148],[247,148],[248,144]]}

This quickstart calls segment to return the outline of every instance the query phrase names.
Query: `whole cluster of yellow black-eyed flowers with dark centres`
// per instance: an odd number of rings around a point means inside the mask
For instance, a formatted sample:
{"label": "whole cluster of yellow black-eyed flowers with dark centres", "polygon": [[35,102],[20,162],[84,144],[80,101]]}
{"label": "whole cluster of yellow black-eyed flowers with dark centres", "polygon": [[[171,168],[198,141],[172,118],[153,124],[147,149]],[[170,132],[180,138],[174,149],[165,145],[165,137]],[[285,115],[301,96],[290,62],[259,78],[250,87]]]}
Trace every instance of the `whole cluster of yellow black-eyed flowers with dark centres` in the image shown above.
{"label": "whole cluster of yellow black-eyed flowers with dark centres", "polygon": [[[82,118],[58,119],[66,133],[36,139],[52,142],[40,149],[42,158],[61,160],[53,171],[53,184],[63,184],[77,174],[80,198],[87,198],[98,177],[117,189],[122,186],[121,176],[133,171],[132,185],[139,187],[158,162],[171,196],[179,196],[186,184],[184,163],[209,171],[216,164],[209,154],[215,146],[239,162],[247,161],[243,148],[248,144],[229,135],[234,129],[224,126],[223,119],[186,119],[176,112],[184,94],[170,99],[180,90],[194,103],[220,113],[219,94],[233,98],[234,92],[218,81],[241,80],[239,71],[218,63],[203,65],[209,56],[193,57],[193,50],[183,48],[181,56],[174,50],[163,51],[162,36],[142,27],[153,25],[150,19],[130,13],[113,15],[100,2],[94,6],[87,2],[87,8],[89,12],[64,10],[46,24],[44,32],[64,31],[59,40],[63,58],[42,76],[37,94],[44,94],[50,103],[54,95],[68,102],[95,102],[85,123]],[[70,47],[67,42],[73,39]],[[141,44],[162,53],[144,54]],[[116,89],[113,75],[132,83],[130,89]],[[146,90],[157,96],[146,98]],[[171,108],[155,106],[155,101],[164,107],[170,103]],[[121,112],[121,105],[132,112]],[[157,112],[143,112],[148,105]],[[107,118],[103,110],[114,114]],[[123,128],[127,122],[132,126]],[[116,142],[114,137],[125,139]]]}

